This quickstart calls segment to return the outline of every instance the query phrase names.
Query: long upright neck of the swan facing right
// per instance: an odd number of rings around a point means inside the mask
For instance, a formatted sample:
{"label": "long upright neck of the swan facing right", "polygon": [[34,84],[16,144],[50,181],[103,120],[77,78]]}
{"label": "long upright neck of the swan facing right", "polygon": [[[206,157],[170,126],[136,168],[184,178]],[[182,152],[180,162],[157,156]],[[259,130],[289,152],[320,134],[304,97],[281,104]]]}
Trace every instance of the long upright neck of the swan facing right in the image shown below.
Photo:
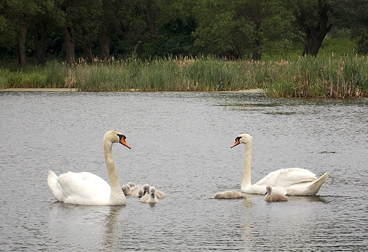
{"label": "long upright neck of the swan facing right", "polygon": [[110,183],[111,194],[110,199],[113,197],[119,197],[124,195],[120,188],[119,178],[117,177],[117,172],[115,168],[115,163],[113,159],[113,143],[112,142],[104,142],[103,143],[103,153],[105,154],[106,166],[108,168],[108,180]]}

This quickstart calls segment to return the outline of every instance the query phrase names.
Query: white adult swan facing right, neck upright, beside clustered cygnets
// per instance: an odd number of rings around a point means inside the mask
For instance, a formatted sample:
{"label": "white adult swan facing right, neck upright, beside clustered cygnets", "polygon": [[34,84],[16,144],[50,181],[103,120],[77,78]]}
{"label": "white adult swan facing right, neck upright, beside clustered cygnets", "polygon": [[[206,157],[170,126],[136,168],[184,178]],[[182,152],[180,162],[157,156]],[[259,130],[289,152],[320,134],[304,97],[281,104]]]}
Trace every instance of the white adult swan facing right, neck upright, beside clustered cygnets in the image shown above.
{"label": "white adult swan facing right, neck upright, beside clustered cygnets", "polygon": [[102,178],[89,172],[67,172],[59,177],[49,171],[47,184],[59,202],[77,205],[125,205],[126,199],[120,188],[113,161],[113,144],[120,143],[130,149],[125,135],[110,130],[103,136],[103,153],[110,185]]}

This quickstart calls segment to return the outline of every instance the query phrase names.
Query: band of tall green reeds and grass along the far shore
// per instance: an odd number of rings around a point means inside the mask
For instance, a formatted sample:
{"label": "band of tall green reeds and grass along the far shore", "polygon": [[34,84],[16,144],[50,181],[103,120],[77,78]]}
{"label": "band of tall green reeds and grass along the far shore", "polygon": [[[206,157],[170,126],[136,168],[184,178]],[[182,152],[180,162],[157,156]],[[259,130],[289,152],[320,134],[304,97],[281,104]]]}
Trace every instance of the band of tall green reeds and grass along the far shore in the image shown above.
{"label": "band of tall green reeds and grass along the far shore", "polygon": [[368,96],[368,58],[345,56],[294,61],[225,61],[212,57],[79,62],[67,67],[0,68],[0,88],[78,88],[79,91],[236,91],[263,88],[265,96]]}

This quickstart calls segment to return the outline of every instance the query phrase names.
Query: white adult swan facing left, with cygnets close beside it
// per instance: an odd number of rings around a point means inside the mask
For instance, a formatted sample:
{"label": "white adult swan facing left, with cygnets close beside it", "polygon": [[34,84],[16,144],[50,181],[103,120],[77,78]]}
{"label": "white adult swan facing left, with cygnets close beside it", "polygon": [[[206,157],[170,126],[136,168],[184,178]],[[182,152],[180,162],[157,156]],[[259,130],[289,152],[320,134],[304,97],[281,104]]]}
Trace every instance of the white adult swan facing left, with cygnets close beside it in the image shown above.
{"label": "white adult swan facing left, with cygnets close beside it", "polygon": [[251,158],[252,137],[249,134],[241,134],[236,137],[231,148],[238,144],[246,144],[246,158],[243,166],[243,180],[241,181],[241,192],[265,194],[266,187],[272,186],[272,191],[284,195],[316,195],[321,186],[326,182],[329,172],[321,178],[316,174],[303,168],[285,168],[269,173],[254,185],[251,183]]}

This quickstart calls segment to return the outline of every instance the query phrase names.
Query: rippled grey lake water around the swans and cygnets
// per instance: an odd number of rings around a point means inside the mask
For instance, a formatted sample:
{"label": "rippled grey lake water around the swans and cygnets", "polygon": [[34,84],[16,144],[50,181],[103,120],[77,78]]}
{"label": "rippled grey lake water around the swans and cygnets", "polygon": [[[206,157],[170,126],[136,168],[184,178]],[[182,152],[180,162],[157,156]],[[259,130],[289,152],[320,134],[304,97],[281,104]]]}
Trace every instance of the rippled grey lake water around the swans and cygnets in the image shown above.
{"label": "rippled grey lake water around the swans and cygnets", "polygon": [[[257,93],[1,93],[1,251],[363,251],[368,248],[368,99],[264,98]],[[108,181],[102,139],[120,184],[149,183],[156,205],[54,200],[47,170]],[[330,177],[315,197],[268,203],[240,190],[253,136],[252,181],[278,168]]]}

